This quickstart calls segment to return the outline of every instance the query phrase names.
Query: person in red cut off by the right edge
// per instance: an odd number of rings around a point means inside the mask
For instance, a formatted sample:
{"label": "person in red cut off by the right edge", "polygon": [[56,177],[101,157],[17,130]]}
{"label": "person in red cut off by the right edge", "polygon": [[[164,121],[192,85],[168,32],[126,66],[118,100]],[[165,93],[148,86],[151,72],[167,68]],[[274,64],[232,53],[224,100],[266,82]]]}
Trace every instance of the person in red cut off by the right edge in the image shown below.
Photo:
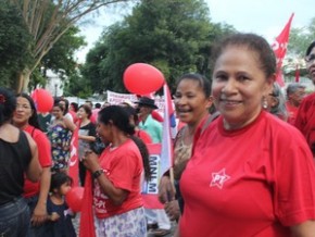
{"label": "person in red cut off by the right edge", "polygon": [[[306,70],[310,74],[310,78],[315,85],[315,41],[313,41],[306,49],[305,54]],[[306,138],[306,141],[315,158],[315,92],[305,97],[300,104],[295,127]]]}

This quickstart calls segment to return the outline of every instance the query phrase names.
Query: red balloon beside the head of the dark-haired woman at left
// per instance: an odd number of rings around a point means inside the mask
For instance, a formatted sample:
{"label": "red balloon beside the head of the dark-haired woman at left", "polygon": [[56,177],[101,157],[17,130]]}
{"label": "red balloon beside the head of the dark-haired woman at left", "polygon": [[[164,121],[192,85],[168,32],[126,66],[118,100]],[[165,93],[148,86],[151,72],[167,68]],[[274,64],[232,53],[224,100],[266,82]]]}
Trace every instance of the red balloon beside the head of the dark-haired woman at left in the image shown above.
{"label": "red balloon beside the head of the dark-haired woman at left", "polygon": [[35,89],[32,93],[32,98],[38,112],[49,112],[53,107],[53,98],[46,89]]}

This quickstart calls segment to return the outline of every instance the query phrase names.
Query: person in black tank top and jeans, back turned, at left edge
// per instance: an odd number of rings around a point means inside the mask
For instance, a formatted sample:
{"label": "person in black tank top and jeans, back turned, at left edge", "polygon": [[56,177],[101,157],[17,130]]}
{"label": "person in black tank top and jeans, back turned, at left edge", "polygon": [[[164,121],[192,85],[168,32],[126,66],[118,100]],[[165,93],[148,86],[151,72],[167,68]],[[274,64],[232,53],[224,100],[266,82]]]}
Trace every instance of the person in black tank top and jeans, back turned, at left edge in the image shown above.
{"label": "person in black tank top and jeans, back turned, at left edge", "polygon": [[24,174],[37,182],[41,172],[35,141],[10,123],[15,108],[13,92],[0,88],[0,233],[10,237],[29,230],[29,211],[22,197]]}

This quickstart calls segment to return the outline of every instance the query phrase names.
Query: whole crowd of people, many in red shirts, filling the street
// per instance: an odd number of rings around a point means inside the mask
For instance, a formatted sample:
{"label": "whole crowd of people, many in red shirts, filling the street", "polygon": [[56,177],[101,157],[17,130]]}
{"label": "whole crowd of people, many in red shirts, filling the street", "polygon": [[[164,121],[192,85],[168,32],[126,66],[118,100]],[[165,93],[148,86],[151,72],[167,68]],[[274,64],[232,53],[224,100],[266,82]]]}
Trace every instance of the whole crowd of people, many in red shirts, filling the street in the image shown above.
{"label": "whole crowd of people, many in red shirts, filling the street", "polygon": [[[315,236],[315,93],[275,83],[276,58],[261,36],[230,35],[211,57],[212,80],[188,73],[176,84],[184,125],[160,179],[164,209],[144,208],[141,196],[152,175],[147,145],[163,137],[152,98],[55,98],[38,113],[27,93],[0,88],[0,235],[77,235],[65,196],[78,129],[81,236],[166,236],[172,221],[176,237]],[[315,85],[315,41],[305,62]]]}

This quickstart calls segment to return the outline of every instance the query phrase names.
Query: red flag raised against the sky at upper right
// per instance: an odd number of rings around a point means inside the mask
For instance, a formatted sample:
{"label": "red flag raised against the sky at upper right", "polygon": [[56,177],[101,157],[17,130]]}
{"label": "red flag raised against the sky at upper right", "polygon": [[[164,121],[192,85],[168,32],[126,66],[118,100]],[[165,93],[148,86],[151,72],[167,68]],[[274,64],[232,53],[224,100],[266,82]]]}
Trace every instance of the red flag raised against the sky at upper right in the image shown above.
{"label": "red flag raised against the sky at upper right", "polygon": [[292,13],[291,17],[289,18],[289,22],[286,24],[285,28],[280,33],[280,35],[276,38],[274,43],[272,45],[274,52],[277,58],[277,78],[276,82],[280,86],[285,86],[285,82],[281,75],[281,66],[282,61],[285,59],[285,55],[287,53],[287,46],[289,42],[289,35],[290,35],[290,28],[291,28],[291,22],[294,16],[294,13]]}

